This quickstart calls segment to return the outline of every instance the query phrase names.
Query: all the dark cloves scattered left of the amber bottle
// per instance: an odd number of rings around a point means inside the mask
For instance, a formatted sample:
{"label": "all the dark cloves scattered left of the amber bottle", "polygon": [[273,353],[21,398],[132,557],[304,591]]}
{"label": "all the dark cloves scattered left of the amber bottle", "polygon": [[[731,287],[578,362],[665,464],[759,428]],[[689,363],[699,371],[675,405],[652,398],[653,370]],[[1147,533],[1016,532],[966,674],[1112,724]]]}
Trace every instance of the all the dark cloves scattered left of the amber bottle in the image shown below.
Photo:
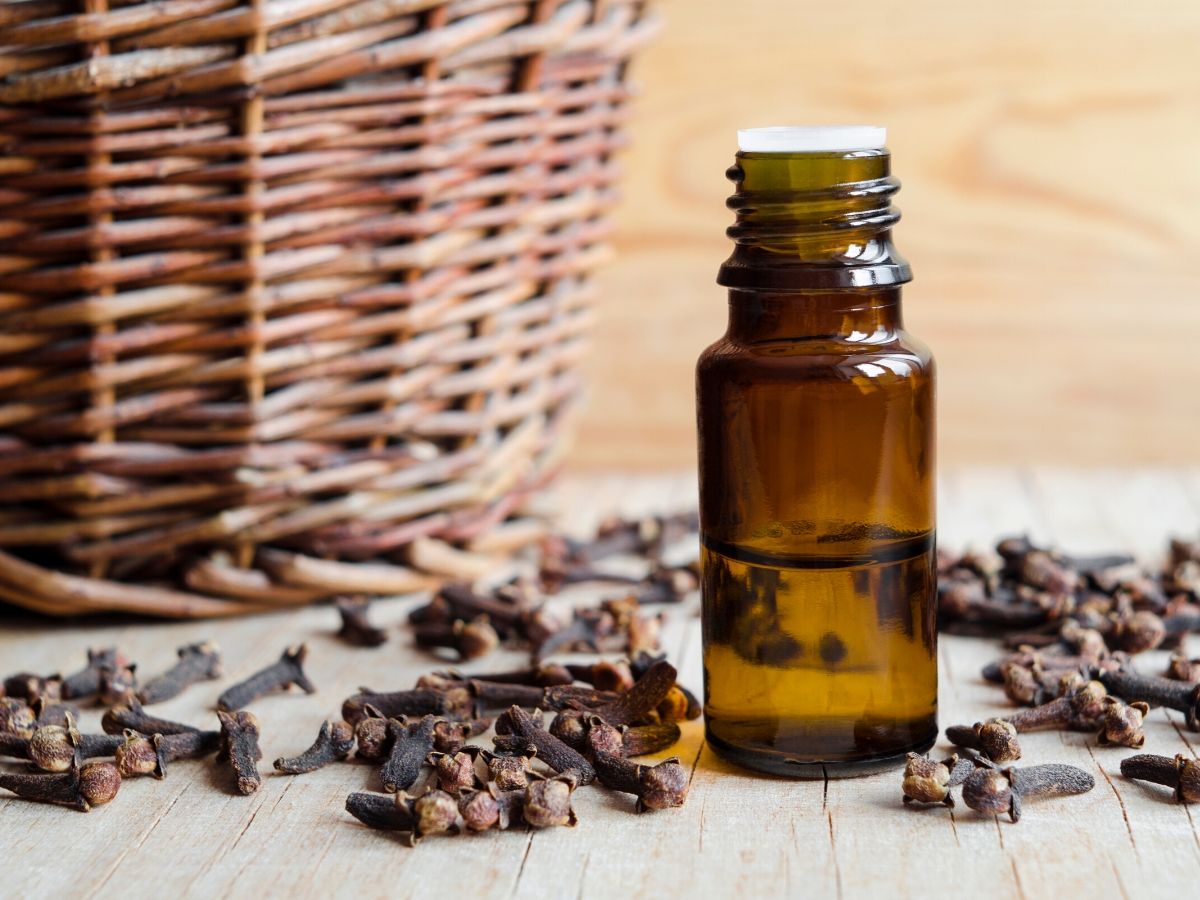
{"label": "all the dark cloves scattered left of the amber bottle", "polygon": [[[679,760],[643,764],[636,757],[667,751],[680,738],[679,722],[701,714],[698,700],[656,653],[661,614],[643,610],[678,602],[696,588],[694,565],[662,560],[664,548],[695,527],[695,516],[613,520],[590,541],[547,539],[534,578],[486,592],[446,584],[410,616],[419,647],[450,662],[505,644],[528,650],[529,665],[469,677],[436,670],[403,690],[364,688],[344,700],[340,718],[319,725],[310,746],[276,758],[274,774],[302,775],[343,761],[370,764],[371,790],[350,794],[346,809],[368,826],[401,832],[409,844],[518,824],[574,826],[575,792],[589,785],[631,794],[637,811],[682,805],[690,773]],[[640,554],[647,574],[629,577],[598,565],[618,553]],[[550,608],[548,598],[583,582],[611,583],[619,593],[595,606]],[[386,642],[368,610],[361,599],[337,600],[343,641]],[[623,656],[548,659],[581,650]],[[162,779],[178,760],[215,757],[227,790],[260,790],[272,773],[260,772],[262,727],[247,707],[275,691],[314,692],[305,673],[307,648],[287,648],[226,688],[208,728],[150,712],[222,677],[211,642],[180,647],[176,655],[173,666],[146,679],[115,648],[90,650],[88,665],[66,677],[5,679],[0,757],[29,770],[0,772],[0,788],[88,810],[113,799],[122,779]],[[86,703],[102,708],[102,733],[79,730]],[[493,728],[490,746],[472,743]]]}

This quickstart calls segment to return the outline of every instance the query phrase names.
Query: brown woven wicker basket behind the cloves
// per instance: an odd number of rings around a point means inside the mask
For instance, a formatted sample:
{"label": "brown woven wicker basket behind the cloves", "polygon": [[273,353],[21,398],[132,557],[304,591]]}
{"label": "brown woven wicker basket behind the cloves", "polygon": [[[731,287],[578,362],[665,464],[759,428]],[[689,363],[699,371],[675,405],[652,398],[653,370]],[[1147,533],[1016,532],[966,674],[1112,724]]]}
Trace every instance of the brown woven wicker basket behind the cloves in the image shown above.
{"label": "brown woven wicker basket behind the cloves", "polygon": [[0,598],[475,575],[562,456],[642,0],[0,6]]}

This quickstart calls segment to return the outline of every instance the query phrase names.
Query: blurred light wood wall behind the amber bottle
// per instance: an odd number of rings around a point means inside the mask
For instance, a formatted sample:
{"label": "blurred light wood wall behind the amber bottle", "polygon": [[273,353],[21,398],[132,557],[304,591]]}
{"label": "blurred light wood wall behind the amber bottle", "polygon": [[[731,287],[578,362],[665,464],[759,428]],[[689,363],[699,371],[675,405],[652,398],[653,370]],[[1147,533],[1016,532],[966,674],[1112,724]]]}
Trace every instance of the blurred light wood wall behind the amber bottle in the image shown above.
{"label": "blurred light wood wall behind the amber bottle", "polygon": [[580,467],[690,466],[739,126],[889,128],[947,464],[1200,448],[1200,4],[659,0]]}

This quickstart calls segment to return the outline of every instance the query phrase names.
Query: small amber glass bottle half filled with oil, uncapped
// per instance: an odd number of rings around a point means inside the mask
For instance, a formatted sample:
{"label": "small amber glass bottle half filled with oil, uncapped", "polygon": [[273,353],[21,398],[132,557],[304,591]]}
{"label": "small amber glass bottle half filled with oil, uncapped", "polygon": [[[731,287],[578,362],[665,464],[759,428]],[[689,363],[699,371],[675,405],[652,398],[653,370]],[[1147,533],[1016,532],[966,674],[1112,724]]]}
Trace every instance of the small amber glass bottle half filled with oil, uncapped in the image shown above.
{"label": "small amber glass bottle half filled with oil, uncapped", "polygon": [[739,132],[696,371],[710,745],[862,774],[937,736],[934,360],[904,330],[883,130]]}

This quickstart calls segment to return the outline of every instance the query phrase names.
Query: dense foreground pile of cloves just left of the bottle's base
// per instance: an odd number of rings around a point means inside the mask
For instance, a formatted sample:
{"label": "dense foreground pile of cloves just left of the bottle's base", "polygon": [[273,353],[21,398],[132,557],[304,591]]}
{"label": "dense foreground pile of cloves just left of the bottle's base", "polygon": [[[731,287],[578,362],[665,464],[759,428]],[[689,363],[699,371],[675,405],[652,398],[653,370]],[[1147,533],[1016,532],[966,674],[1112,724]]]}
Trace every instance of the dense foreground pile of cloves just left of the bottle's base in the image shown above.
{"label": "dense foreground pile of cloves just left of the bottle's base", "polygon": [[[378,766],[384,791],[350,794],[347,811],[415,844],[522,822],[572,826],[571,798],[593,782],[634,794],[638,811],[680,806],[690,774],[678,758],[644,766],[630,757],[670,749],[678,721],[698,716],[700,706],[670,662],[643,652],[474,678],[434,672],[410,689],[364,689],[342,715],[355,758]],[[493,726],[491,750],[467,744]]]}

